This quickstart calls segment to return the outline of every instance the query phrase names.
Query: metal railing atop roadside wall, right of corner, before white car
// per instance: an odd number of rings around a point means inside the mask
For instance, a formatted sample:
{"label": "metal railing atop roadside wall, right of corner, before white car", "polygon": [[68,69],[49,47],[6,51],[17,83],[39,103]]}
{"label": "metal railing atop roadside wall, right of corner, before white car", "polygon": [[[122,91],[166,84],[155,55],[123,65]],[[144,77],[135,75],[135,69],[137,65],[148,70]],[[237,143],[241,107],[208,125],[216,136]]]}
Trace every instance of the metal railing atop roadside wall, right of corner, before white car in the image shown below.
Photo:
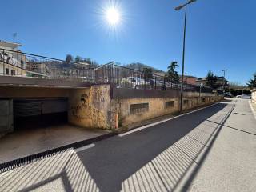
{"label": "metal railing atop roadside wall, right of corner, before white car", "polygon": [[[115,86],[122,88],[158,90],[181,89],[181,83],[170,82],[165,76],[152,74],[152,77],[148,78],[148,74],[145,74],[145,72],[141,70],[118,66],[115,62],[110,62],[96,68],[95,77],[98,83],[112,83]],[[183,89],[186,91],[197,91],[202,93],[213,92],[209,87],[186,83],[184,83]]]}

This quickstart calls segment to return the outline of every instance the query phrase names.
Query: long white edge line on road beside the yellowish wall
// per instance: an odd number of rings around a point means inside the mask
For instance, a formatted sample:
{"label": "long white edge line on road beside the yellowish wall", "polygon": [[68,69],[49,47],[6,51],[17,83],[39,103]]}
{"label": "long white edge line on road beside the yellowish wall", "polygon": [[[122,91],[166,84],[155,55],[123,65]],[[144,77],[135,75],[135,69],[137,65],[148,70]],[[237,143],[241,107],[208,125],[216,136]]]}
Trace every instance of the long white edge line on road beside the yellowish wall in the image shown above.
{"label": "long white edge line on road beside the yellowish wall", "polygon": [[[217,105],[218,103],[219,103],[219,102],[216,102],[216,103],[214,103],[214,104],[212,104],[212,105],[210,105],[210,106],[215,106],[215,105]],[[205,106],[205,107],[202,107],[202,108],[200,108],[200,109],[198,109],[198,110],[204,110],[204,109],[206,109],[206,108],[208,108],[208,107],[210,107],[210,106]],[[194,113],[194,112],[197,112],[198,110],[193,110],[193,111],[190,111],[190,112],[188,112],[188,113],[186,113],[186,114],[192,114],[192,113]],[[168,122],[168,121],[170,121],[170,120],[172,120],[172,119],[174,119],[174,118],[180,118],[180,117],[182,117],[182,116],[184,116],[184,115],[186,115],[186,114],[180,114],[180,115],[175,116],[175,117],[173,117],[173,118],[166,118],[165,120],[162,120],[162,121],[160,121],[160,122],[154,122],[154,123],[151,123],[151,124],[146,125],[146,126],[141,126],[141,127],[138,127],[138,128],[136,128],[136,129],[134,129],[134,130],[130,130],[130,131],[126,132],[126,133],[118,134],[118,136],[119,136],[119,137],[124,137],[124,136],[126,136],[127,134],[132,134],[132,133],[137,132],[137,131],[139,131],[139,130],[144,130],[144,129],[146,129],[146,128],[149,128],[150,126],[156,126],[156,125],[158,125],[158,124],[161,124],[162,122]]]}

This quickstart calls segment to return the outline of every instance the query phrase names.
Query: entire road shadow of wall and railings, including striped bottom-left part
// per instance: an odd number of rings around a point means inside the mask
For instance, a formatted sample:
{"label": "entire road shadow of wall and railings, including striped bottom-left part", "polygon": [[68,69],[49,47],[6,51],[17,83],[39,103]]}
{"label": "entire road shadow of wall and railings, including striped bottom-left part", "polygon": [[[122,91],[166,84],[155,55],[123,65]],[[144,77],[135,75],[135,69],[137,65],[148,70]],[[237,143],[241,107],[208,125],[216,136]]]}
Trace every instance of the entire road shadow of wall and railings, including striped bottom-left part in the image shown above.
{"label": "entire road shadow of wall and railings, including striped bottom-left part", "polygon": [[190,172],[186,191],[232,110],[220,103],[91,150],[65,150],[0,174],[0,190],[173,191]]}

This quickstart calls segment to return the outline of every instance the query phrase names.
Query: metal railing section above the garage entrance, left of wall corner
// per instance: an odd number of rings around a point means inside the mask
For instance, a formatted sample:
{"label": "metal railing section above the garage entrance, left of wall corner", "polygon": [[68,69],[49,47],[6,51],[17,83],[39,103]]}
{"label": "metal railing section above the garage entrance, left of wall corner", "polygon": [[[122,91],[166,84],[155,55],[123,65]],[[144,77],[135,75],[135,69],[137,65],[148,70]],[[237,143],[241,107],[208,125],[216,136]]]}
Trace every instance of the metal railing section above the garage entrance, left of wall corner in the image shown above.
{"label": "metal railing section above the garage entrance, left of wall corner", "polygon": [[87,63],[4,49],[0,49],[0,75],[95,81],[94,68]]}

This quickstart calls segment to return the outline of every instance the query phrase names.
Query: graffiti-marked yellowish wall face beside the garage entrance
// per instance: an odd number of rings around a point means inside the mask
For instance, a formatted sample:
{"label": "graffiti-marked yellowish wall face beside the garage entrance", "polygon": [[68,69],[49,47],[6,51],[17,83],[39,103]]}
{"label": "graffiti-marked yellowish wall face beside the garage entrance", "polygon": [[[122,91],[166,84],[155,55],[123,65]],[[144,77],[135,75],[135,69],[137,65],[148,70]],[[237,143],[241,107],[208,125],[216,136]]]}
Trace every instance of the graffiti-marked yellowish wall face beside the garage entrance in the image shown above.
{"label": "graffiti-marked yellowish wall face beside the garage entrance", "polygon": [[70,90],[69,122],[88,128],[110,127],[110,85]]}

